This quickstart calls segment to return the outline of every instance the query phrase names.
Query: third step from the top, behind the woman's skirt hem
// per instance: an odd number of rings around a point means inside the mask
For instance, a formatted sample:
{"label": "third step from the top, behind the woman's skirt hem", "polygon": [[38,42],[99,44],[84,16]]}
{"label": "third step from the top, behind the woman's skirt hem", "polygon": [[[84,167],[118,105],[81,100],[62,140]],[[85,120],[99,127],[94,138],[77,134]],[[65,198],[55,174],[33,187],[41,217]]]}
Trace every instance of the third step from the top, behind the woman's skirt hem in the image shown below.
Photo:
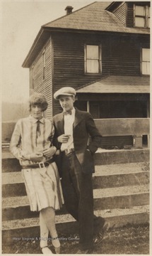
{"label": "third step from the top, behind the woman's skirt hem", "polygon": [[[94,189],[93,197],[95,210],[144,206],[149,203],[149,186]],[[30,211],[27,196],[8,197],[2,200],[3,220],[33,217],[33,214],[35,213]]]}

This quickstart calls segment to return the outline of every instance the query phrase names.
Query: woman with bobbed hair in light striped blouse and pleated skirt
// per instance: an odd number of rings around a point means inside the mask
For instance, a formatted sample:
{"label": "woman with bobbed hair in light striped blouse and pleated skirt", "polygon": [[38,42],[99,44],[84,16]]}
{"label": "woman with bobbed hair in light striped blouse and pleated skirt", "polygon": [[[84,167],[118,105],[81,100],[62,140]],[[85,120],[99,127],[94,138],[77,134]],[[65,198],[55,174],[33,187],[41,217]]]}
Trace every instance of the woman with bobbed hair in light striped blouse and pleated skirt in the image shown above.
{"label": "woman with bobbed hair in light striped blouse and pleated skirt", "polygon": [[40,211],[40,248],[43,254],[52,254],[47,247],[48,235],[59,253],[54,210],[62,206],[62,188],[54,162],[56,147],[52,146],[54,127],[43,117],[47,101],[40,93],[30,97],[30,116],[19,119],[13,131],[10,151],[20,161],[30,210]]}

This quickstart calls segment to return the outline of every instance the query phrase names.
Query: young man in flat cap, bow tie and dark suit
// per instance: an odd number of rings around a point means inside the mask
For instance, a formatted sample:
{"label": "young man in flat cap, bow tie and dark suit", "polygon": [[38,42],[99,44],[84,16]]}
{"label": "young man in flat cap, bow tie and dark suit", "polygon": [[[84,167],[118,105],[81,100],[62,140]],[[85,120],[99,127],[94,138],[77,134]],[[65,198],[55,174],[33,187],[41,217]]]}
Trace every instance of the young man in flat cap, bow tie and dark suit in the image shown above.
{"label": "young man in flat cap, bow tie and dark suit", "polygon": [[90,113],[74,108],[75,96],[76,90],[72,87],[62,87],[54,93],[63,112],[53,117],[53,143],[61,152],[60,172],[66,209],[79,223],[76,253],[84,254],[92,250],[93,240],[103,239],[106,226],[103,218],[93,215],[93,154],[100,146],[101,135]]}

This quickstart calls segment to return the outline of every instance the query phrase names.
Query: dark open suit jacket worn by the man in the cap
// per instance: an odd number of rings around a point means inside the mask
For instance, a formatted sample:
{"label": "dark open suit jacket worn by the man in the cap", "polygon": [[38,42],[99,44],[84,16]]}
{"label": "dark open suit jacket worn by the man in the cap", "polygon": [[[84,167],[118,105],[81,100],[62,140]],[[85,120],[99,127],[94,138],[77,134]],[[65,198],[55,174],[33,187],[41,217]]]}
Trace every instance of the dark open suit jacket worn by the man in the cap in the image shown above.
{"label": "dark open suit jacket worn by the man in the cap", "polygon": [[[60,149],[61,143],[57,142],[57,137],[64,134],[64,115],[63,112],[53,117],[54,124],[54,139],[53,144]],[[93,154],[100,146],[101,135],[98,129],[95,127],[93,117],[88,112],[76,110],[74,119],[74,149],[78,161],[82,166],[84,173],[93,173],[95,171],[93,163]],[[90,139],[89,139],[90,137]],[[86,150],[89,149],[90,151]],[[60,159],[62,161],[62,159]],[[58,162],[59,168],[59,162]],[[59,168],[60,169],[60,168]],[[61,163],[62,169],[62,163]],[[59,172],[62,170],[59,170]]]}

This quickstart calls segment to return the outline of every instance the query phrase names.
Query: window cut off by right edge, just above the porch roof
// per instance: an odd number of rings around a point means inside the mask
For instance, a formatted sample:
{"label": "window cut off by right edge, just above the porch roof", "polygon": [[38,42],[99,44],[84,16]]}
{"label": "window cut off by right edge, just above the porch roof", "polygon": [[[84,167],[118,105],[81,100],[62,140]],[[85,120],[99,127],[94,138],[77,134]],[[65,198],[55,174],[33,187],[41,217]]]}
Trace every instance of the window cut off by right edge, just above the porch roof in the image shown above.
{"label": "window cut off by right edge, just above the porch roof", "polygon": [[148,48],[141,50],[141,74],[150,75],[150,49]]}

